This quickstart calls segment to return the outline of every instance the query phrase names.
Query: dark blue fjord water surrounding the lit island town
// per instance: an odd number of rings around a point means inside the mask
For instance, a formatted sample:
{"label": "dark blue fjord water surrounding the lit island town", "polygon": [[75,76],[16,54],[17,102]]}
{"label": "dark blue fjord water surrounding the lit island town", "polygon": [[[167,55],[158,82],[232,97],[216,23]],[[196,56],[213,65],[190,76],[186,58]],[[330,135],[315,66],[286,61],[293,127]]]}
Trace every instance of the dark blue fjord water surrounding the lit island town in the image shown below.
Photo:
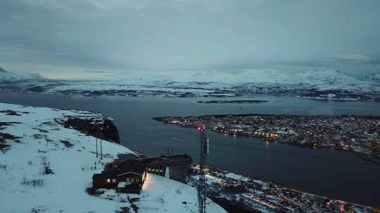
{"label": "dark blue fjord water surrounding the lit island town", "polygon": [[[241,99],[241,98],[240,98]],[[252,98],[251,98],[252,99]],[[129,149],[158,155],[173,149],[198,160],[198,132],[153,121],[156,116],[205,114],[357,114],[380,116],[379,102],[324,102],[290,96],[258,95],[260,104],[198,104],[206,98],[58,97],[0,92],[0,102],[58,109],[99,111],[115,118],[121,143]],[[274,181],[300,191],[380,207],[380,164],[348,151],[309,149],[207,132],[207,162],[238,174]],[[89,177],[91,179],[91,177]]]}

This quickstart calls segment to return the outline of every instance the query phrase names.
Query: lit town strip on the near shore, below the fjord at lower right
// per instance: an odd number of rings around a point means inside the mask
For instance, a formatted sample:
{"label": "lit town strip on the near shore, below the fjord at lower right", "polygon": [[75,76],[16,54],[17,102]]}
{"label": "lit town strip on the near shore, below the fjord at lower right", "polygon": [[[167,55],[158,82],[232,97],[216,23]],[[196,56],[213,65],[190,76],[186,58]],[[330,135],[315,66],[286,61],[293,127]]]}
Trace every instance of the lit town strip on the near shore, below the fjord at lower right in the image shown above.
{"label": "lit town strip on the near shore, below the fjord at lower right", "polygon": [[[236,212],[379,212],[379,209],[297,191],[271,181],[243,177],[208,166],[208,196]],[[188,183],[196,186],[199,167],[191,169]]]}

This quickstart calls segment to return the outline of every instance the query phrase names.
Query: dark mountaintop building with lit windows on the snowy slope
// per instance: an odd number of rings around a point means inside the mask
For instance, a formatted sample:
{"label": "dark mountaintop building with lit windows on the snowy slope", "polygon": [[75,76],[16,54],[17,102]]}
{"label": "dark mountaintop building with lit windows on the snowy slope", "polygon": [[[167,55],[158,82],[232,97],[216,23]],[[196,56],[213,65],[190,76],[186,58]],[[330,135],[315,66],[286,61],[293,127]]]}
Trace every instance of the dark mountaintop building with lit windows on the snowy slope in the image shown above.
{"label": "dark mountaintop building with lit windows on the snowy slope", "polygon": [[94,188],[115,188],[122,193],[140,193],[146,172],[184,182],[193,159],[186,154],[141,158],[133,154],[120,154],[106,164],[101,174],[94,174]]}

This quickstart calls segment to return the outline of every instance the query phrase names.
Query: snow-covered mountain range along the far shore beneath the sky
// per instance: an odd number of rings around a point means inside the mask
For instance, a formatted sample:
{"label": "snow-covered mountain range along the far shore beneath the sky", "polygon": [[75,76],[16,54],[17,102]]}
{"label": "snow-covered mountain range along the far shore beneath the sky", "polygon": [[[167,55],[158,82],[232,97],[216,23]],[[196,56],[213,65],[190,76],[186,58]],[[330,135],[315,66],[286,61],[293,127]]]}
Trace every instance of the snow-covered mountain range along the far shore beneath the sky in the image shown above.
{"label": "snow-covered mountain range along the far shore beneath the sky", "polygon": [[0,88],[66,95],[163,97],[228,97],[254,94],[328,95],[337,99],[374,100],[380,95],[380,74],[358,79],[336,70],[290,75],[274,69],[222,71],[129,71],[102,80],[57,81],[39,74],[0,69]]}

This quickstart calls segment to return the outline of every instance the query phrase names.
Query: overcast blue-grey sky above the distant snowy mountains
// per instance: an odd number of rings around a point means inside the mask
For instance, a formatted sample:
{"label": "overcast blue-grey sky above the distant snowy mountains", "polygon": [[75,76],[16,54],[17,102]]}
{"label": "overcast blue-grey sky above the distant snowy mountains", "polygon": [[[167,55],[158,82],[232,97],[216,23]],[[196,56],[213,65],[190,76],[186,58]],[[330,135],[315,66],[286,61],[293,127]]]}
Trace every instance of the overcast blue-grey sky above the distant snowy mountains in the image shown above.
{"label": "overcast blue-grey sky above the distant snowy mountains", "polygon": [[380,73],[380,1],[1,0],[0,67]]}

